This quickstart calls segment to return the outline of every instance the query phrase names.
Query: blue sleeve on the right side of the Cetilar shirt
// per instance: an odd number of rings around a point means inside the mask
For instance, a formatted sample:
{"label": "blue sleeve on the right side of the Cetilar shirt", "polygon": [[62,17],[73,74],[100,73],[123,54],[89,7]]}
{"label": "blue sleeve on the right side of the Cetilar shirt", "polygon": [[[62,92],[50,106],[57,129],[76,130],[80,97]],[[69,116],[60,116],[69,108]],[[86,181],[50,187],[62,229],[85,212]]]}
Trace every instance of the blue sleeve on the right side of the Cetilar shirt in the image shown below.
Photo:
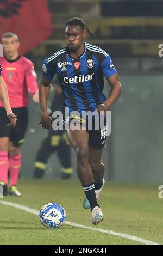
{"label": "blue sleeve on the right side of the Cetilar shirt", "polygon": [[109,55],[101,63],[101,69],[105,77],[110,77],[117,72]]}

